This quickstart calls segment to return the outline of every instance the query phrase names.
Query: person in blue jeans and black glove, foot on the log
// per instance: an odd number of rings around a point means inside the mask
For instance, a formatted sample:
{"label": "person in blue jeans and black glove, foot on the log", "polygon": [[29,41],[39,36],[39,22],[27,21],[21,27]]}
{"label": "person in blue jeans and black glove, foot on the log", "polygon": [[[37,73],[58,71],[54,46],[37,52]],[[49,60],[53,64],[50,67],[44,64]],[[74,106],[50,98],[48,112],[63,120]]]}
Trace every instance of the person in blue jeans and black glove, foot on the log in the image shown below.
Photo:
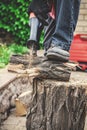
{"label": "person in blue jeans and black glove, foot on the log", "polygon": [[[69,49],[76,28],[81,0],[33,0],[33,12],[45,26],[44,48],[48,59],[69,60]],[[54,6],[55,19],[49,13]]]}

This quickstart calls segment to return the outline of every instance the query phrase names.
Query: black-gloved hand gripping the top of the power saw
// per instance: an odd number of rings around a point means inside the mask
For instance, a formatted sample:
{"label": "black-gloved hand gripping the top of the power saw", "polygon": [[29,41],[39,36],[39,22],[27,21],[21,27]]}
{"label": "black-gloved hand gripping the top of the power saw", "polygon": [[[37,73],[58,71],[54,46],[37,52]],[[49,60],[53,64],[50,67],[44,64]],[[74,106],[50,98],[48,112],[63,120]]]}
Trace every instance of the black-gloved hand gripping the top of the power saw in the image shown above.
{"label": "black-gloved hand gripping the top of the power saw", "polygon": [[44,25],[47,25],[46,19],[48,18],[48,13],[50,12],[47,0],[33,0],[28,8],[28,13],[34,12],[35,16]]}

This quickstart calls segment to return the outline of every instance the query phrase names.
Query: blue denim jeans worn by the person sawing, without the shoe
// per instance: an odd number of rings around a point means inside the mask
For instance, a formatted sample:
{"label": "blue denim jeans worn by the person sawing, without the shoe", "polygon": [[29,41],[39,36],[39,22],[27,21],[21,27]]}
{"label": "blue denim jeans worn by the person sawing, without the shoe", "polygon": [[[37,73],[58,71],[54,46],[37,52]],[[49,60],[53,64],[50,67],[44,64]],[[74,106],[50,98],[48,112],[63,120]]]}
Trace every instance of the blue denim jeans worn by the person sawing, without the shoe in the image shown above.
{"label": "blue denim jeans worn by the person sawing, without the shoe", "polygon": [[45,29],[44,46],[60,46],[69,51],[76,28],[81,0],[55,0],[56,19],[49,17],[49,25]]}

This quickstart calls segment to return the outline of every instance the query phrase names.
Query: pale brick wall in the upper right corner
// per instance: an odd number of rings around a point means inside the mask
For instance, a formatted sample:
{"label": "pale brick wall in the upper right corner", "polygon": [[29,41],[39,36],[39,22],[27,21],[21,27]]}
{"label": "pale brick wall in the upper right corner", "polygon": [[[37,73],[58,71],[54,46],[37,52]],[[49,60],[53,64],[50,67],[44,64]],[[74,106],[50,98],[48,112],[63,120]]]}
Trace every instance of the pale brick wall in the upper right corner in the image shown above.
{"label": "pale brick wall in the upper right corner", "polygon": [[81,0],[80,14],[75,34],[87,34],[87,0]]}

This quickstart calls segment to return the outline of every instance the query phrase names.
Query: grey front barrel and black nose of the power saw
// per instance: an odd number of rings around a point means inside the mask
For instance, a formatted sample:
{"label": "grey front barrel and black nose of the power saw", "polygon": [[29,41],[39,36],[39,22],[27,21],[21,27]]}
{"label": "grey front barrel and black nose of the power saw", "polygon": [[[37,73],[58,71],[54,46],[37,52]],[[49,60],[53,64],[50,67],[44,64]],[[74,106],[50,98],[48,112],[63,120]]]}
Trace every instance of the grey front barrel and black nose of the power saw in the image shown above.
{"label": "grey front barrel and black nose of the power saw", "polygon": [[36,17],[30,19],[30,37],[27,41],[27,47],[30,49],[31,56],[37,56],[37,49],[38,49],[38,32],[40,22]]}

